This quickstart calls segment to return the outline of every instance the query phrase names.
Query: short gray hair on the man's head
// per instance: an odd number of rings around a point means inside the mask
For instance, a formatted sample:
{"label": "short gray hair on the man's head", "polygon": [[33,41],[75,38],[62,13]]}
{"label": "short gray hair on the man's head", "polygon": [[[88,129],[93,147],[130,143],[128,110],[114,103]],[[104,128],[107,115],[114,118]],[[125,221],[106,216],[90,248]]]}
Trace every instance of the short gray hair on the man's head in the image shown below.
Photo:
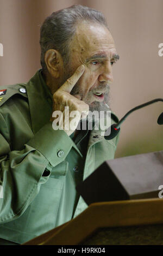
{"label": "short gray hair on the man's head", "polygon": [[104,15],[97,10],[83,5],[72,5],[52,13],[43,22],[40,30],[41,66],[47,71],[45,53],[49,49],[57,50],[64,64],[70,57],[70,40],[76,32],[76,26],[81,21],[93,21],[108,28]]}

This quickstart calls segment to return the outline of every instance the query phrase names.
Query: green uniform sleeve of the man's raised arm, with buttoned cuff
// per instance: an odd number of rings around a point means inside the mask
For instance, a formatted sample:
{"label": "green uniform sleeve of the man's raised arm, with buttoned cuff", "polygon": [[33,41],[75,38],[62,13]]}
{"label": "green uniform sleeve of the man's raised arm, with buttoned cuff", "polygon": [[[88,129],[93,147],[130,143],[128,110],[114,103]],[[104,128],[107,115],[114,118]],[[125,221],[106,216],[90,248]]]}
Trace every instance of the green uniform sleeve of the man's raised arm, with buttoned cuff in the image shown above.
{"label": "green uniform sleeve of the man's raised arm, with buttoned cuff", "polygon": [[[5,136],[7,135],[7,136]],[[47,123],[21,151],[11,151],[7,124],[0,113],[0,223],[20,217],[39,193],[50,169],[61,163],[73,142],[64,130],[53,130]]]}

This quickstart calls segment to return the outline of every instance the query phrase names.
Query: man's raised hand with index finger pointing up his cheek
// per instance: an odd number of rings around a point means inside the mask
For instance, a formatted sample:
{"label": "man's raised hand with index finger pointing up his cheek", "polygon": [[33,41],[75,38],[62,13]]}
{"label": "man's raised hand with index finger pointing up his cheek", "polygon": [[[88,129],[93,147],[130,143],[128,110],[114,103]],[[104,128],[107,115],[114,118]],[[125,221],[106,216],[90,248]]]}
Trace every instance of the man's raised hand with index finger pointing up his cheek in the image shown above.
{"label": "man's raised hand with index finger pointing up his cheek", "polygon": [[[89,105],[87,105],[81,99],[81,96],[78,94],[76,96],[72,96],[70,94],[74,85],[76,85],[80,76],[84,73],[84,66],[80,66],[77,68],[76,72],[67,79],[64,85],[62,85],[54,94],[53,94],[53,114],[51,117],[51,121],[54,121],[57,117],[57,121],[60,124],[61,129],[65,130],[68,136],[70,136],[74,130],[76,130],[78,126],[78,122],[80,121],[81,116],[86,118],[89,114]],[[65,106],[69,107],[69,115],[68,118],[65,115]],[[61,111],[62,116],[59,117],[55,115],[55,111]],[[72,111],[78,111],[78,115],[75,116],[76,124],[75,126],[70,125],[71,121],[74,117],[70,117]]]}

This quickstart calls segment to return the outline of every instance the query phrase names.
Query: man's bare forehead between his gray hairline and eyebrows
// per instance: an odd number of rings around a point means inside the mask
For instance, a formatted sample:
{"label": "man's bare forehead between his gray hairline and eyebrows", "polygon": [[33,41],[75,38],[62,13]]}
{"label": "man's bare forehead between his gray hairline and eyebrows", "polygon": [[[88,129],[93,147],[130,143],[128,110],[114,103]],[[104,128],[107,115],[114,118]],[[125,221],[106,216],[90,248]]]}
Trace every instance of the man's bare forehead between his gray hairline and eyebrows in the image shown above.
{"label": "man's bare forehead between his gray hairline and eyebrows", "polygon": [[[93,26],[94,27],[94,26]],[[109,60],[114,58],[117,61],[117,53],[115,49],[114,40],[108,30],[107,33],[105,28],[99,26],[100,29],[92,29],[91,26],[86,24],[86,27],[79,26],[77,27],[76,34],[74,35],[71,41],[71,56],[73,61],[77,58],[80,59],[80,63],[87,64],[93,59],[103,59]],[[102,28],[102,35],[103,37],[97,35],[100,32],[101,34]]]}

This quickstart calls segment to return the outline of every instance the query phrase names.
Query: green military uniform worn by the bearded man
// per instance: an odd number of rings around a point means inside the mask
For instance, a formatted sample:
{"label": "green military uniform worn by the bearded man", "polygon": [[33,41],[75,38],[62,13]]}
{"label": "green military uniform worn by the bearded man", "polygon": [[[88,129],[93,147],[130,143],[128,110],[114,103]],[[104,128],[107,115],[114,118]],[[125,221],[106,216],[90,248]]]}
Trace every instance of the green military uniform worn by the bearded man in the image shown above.
{"label": "green military uniform worn by the bearded man", "polygon": [[[86,209],[75,187],[114,158],[118,138],[106,141],[93,129],[73,140],[54,130],[52,94],[41,70],[27,84],[0,92],[0,237],[23,243]],[[117,121],[112,114],[111,123]]]}

